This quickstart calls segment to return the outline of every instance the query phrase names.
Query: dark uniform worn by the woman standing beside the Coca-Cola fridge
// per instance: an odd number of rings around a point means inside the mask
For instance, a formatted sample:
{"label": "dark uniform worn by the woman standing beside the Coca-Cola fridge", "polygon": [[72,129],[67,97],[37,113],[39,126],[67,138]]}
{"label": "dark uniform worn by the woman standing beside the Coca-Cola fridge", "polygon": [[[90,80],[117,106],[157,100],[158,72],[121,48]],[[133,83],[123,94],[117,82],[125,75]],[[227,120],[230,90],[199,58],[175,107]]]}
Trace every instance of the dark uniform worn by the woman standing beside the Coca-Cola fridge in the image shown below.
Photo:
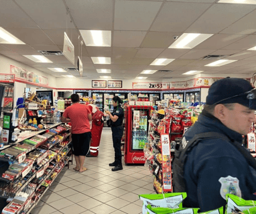
{"label": "dark uniform worn by the woman standing beside the Coca-Cola fridge", "polygon": [[124,128],[122,127],[122,121],[124,120],[124,110],[120,106],[114,107],[112,115],[118,116],[116,122],[112,122],[111,124],[113,147],[115,150],[114,163],[122,165],[121,140],[122,134],[124,132]]}

